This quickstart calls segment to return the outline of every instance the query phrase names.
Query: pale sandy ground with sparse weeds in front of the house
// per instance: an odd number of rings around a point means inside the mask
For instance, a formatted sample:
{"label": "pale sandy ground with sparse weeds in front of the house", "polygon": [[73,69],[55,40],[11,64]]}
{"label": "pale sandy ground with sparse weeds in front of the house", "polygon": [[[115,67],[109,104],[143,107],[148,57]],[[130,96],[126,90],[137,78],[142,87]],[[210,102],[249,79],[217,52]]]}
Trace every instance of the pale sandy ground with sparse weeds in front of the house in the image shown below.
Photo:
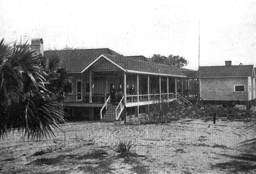
{"label": "pale sandy ground with sparse weeds in front of the house", "polygon": [[[62,126],[65,136],[57,130],[56,138],[41,142],[24,140],[16,132],[0,141],[0,174],[255,174],[256,148],[241,144],[256,137],[254,123],[67,123]],[[113,152],[122,140],[134,142],[133,155]],[[96,149],[107,153],[95,156]],[[45,154],[33,155],[41,150]]]}

